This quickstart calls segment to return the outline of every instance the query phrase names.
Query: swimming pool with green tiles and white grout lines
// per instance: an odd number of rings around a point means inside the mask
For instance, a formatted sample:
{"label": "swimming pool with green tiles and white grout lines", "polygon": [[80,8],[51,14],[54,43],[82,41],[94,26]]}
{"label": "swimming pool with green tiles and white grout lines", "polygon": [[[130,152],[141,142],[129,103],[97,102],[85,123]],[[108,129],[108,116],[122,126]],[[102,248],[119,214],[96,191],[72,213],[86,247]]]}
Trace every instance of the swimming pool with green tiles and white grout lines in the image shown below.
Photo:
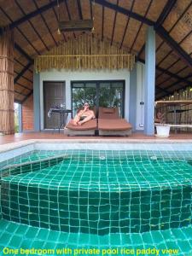
{"label": "swimming pool with green tiles and white grout lines", "polygon": [[191,255],[191,146],[34,143],[25,154],[16,149],[15,158],[1,162],[1,223],[20,242],[5,244],[3,231],[0,245],[23,247],[17,230],[27,227],[28,247],[44,241],[49,248],[54,236],[54,248],[125,247],[137,255],[156,247]]}

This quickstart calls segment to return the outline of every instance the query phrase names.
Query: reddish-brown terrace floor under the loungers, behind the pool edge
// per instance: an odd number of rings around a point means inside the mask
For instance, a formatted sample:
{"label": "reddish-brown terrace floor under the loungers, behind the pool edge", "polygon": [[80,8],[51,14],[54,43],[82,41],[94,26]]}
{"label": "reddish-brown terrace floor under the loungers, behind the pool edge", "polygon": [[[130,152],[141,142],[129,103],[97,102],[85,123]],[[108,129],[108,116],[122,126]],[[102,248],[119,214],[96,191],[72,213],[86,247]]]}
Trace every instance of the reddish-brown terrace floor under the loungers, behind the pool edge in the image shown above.
{"label": "reddish-brown terrace floor under the loungers, behind the pool edge", "polygon": [[[89,139],[89,140],[124,140],[127,142],[130,141],[145,141],[145,140],[154,140],[154,141],[160,141],[160,140],[165,140],[162,138],[157,138],[155,136],[146,136],[143,135],[142,133],[133,133],[130,137],[99,137],[99,136],[94,136],[94,137],[88,137],[88,136],[84,136],[84,137],[67,137],[63,134],[63,132],[61,131],[61,133],[59,133],[58,131],[53,132],[27,132],[27,133],[15,133],[13,135],[2,135],[0,136],[0,145],[2,144],[6,144],[6,143],[15,143],[15,142],[20,142],[20,141],[25,141],[25,140],[31,140],[31,139],[52,139],[52,140],[65,140],[65,139],[70,139],[70,140],[74,140],[74,139]],[[171,133],[169,138],[166,138],[167,141],[170,140],[192,140],[192,132],[189,133]]]}

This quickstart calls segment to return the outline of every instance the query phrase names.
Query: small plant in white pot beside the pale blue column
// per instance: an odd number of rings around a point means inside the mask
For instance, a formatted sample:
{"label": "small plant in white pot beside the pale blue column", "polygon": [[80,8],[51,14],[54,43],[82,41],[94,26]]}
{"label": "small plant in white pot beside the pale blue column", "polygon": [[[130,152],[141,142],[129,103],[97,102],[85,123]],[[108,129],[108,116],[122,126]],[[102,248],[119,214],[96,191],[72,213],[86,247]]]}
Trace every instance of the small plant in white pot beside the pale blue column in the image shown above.
{"label": "small plant in white pot beside the pale blue column", "polygon": [[166,125],[164,118],[164,114],[158,112],[157,118],[155,119],[155,126],[156,126],[156,137],[169,137],[170,133],[170,125]]}

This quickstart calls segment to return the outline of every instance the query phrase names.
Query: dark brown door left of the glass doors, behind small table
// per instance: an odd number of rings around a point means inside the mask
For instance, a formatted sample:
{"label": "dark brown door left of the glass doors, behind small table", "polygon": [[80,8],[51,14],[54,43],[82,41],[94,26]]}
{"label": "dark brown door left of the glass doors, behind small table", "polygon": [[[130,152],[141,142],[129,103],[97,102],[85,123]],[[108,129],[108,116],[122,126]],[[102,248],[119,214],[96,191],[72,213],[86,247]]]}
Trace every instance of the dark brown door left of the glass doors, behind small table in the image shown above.
{"label": "dark brown door left of the glass doors, behind small table", "polygon": [[65,82],[44,82],[44,129],[53,129],[60,122],[59,113],[48,118],[49,108],[66,103]]}

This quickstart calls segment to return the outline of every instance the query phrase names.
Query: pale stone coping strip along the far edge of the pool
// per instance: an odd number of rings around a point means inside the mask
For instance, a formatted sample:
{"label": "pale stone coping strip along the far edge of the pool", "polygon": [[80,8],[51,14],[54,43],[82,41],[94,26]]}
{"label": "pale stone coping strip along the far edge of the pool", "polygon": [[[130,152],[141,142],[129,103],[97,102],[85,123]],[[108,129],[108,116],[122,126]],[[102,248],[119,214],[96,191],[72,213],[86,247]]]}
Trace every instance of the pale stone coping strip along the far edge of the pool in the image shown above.
{"label": "pale stone coping strip along the far edge of the pool", "polygon": [[119,139],[108,139],[108,138],[103,138],[103,139],[96,139],[96,138],[84,138],[84,139],[29,139],[25,141],[20,141],[20,142],[15,142],[15,143],[6,143],[3,145],[0,145],[0,153],[7,152],[12,149],[16,148],[22,148],[28,145],[34,145],[36,143],[58,143],[58,144],[74,144],[74,143],[106,143],[106,144],[113,144],[113,143],[118,143],[118,144],[125,144],[125,143],[130,143],[130,144],[177,144],[177,143],[183,143],[183,144],[190,144],[192,143],[192,139],[189,139],[186,141],[186,139],[170,139],[170,138],[158,138],[158,139],[129,139],[125,138],[125,140],[119,140]]}

